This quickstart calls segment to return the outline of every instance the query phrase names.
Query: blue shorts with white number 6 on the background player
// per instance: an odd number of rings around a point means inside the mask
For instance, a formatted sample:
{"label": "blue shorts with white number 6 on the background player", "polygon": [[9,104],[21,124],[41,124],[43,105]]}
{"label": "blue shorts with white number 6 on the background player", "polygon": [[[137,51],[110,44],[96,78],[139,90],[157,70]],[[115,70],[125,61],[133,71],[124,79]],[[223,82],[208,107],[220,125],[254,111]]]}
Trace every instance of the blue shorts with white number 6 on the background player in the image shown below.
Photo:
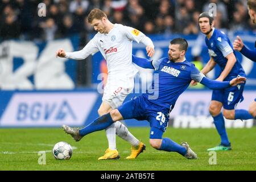
{"label": "blue shorts with white number 6 on the background player", "polygon": [[222,90],[213,90],[212,101],[219,101],[224,109],[233,110],[239,102],[243,101],[243,88],[245,83],[231,86]]}

